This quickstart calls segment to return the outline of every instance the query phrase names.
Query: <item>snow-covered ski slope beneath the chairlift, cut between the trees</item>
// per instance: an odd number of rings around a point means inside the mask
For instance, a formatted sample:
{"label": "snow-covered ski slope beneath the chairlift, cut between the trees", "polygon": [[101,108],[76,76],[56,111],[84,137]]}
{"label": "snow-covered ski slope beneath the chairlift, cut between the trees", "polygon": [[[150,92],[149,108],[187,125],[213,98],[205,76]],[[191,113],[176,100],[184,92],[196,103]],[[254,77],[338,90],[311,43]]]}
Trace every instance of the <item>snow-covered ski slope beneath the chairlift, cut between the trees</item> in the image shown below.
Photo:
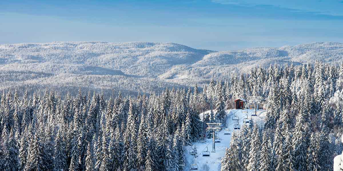
{"label": "snow-covered ski slope beneath the chairlift, cut between the trees", "polygon": [[[243,113],[248,111],[248,113]],[[216,111],[213,111],[214,114]],[[205,116],[207,114],[210,114],[211,111],[206,111]],[[234,130],[234,124],[237,123],[237,121],[232,120],[232,116],[238,116],[239,117],[239,124],[240,127],[243,126],[243,118],[245,118],[248,114],[248,118],[251,118],[251,114],[255,113],[255,109],[230,109],[226,110],[226,125],[229,128],[230,132],[232,133]],[[263,120],[265,117],[265,110],[257,110],[257,116],[253,116],[252,119],[254,120],[255,123],[259,124],[259,126],[263,125]],[[200,118],[203,118],[203,113],[200,114]],[[225,127],[225,126],[223,126]],[[239,130],[235,130],[239,131]],[[225,155],[225,149],[229,147],[230,145],[230,140],[231,140],[231,135],[224,135],[224,128],[218,132],[218,135],[221,139],[221,143],[215,143],[215,148],[216,152],[211,153],[212,151],[212,138],[211,139],[206,139],[206,143],[201,143],[201,142],[195,142],[193,143],[193,147],[197,148],[197,155],[196,157],[192,156],[189,154],[189,149],[191,146],[185,146],[186,151],[186,167],[185,170],[190,170],[190,167],[192,164],[196,164],[198,166],[198,170],[202,171],[202,166],[204,164],[207,164],[209,166],[209,171],[217,171],[220,169],[221,165],[221,160]],[[212,136],[211,136],[212,137]],[[203,157],[202,152],[206,150],[206,147],[208,148],[208,151],[210,152],[210,157]]]}

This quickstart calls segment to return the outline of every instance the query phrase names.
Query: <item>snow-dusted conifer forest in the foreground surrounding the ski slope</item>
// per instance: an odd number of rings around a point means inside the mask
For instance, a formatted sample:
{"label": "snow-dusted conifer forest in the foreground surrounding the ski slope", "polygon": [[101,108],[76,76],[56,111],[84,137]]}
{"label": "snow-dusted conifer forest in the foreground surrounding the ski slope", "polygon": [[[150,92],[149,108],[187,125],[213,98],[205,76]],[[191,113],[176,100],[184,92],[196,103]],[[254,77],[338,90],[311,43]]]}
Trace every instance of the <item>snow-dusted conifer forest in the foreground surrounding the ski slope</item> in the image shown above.
{"label": "snow-dusted conifer forest in the foreground surrounding the ski slope", "polygon": [[137,96],[35,92],[0,95],[1,171],[192,170],[188,147],[205,123],[225,125],[235,99],[248,96],[266,99],[263,123],[252,117],[230,131],[218,170],[331,171],[343,150],[343,63],[257,66],[203,87]]}

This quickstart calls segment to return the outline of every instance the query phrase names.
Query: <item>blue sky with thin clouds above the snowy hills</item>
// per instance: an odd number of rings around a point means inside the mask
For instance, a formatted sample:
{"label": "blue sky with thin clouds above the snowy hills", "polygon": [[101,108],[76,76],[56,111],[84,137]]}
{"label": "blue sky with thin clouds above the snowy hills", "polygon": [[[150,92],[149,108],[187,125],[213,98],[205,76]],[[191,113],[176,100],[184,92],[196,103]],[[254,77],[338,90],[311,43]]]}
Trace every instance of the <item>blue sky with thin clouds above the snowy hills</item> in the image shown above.
{"label": "blue sky with thin clouds above the snowy hills", "polygon": [[174,42],[239,50],[343,43],[343,0],[1,0],[0,44]]}

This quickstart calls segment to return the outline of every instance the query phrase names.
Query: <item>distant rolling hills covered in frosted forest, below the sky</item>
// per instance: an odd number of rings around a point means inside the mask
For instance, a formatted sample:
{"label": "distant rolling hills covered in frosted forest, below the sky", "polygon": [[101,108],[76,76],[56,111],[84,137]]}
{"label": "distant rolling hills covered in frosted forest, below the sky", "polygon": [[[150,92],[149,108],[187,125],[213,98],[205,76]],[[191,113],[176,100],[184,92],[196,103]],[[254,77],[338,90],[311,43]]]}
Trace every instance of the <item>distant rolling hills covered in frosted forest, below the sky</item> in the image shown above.
{"label": "distant rolling hills covered in frosted forest, below the sky", "polygon": [[[270,64],[338,64],[343,44],[315,42],[282,48],[215,52],[176,43],[52,42],[0,45],[0,90],[55,89],[61,94],[104,91],[134,95],[202,87],[213,79]],[[23,91],[20,91],[23,92]]]}

